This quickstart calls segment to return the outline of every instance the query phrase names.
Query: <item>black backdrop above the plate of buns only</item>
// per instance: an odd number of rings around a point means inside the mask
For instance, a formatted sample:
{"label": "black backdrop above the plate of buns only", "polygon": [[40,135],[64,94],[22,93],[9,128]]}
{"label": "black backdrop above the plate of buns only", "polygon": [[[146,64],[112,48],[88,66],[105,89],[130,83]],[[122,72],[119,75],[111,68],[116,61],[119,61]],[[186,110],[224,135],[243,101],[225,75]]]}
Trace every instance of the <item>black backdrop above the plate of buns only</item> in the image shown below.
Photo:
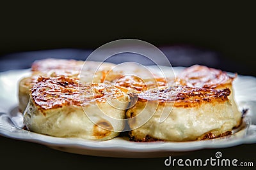
{"label": "black backdrop above the plate of buns only", "polygon": [[[256,75],[255,9],[250,3],[10,3],[1,5],[0,12],[1,59],[10,59],[8,53],[35,50],[95,50],[109,41],[134,38],[167,46],[168,57],[177,57],[173,52],[181,46],[188,51],[186,56],[198,58],[174,66],[205,64]],[[201,62],[207,55],[191,48],[214,52],[218,62]]]}

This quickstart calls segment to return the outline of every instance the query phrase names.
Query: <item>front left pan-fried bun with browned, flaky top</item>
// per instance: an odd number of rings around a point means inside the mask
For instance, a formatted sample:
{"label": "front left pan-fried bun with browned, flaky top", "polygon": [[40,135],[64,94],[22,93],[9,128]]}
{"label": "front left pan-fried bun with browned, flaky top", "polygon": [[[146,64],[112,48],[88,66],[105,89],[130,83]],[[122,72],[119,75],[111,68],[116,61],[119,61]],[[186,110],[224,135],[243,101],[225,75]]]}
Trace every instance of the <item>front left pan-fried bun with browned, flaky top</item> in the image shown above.
{"label": "front left pan-fried bun with browned, flaky top", "polygon": [[[111,118],[123,120],[125,110],[118,108],[128,104],[129,96],[113,85],[39,76],[31,87],[24,125],[29,131],[56,137],[112,139],[125,122],[116,124]],[[84,111],[92,114],[94,123]]]}

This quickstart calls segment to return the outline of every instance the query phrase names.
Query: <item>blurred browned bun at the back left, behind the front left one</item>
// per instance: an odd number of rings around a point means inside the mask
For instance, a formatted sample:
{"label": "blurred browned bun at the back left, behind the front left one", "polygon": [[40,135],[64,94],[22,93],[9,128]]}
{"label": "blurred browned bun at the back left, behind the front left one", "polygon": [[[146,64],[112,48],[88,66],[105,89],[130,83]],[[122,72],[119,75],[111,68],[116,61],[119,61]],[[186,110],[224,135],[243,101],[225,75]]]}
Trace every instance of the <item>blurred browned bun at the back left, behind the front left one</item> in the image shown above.
{"label": "blurred browned bun at the back left, behind the front left one", "polygon": [[[65,60],[65,59],[43,59],[36,60],[31,66],[31,76],[22,78],[19,82],[19,110],[24,112],[29,101],[29,89],[34,85],[38,76],[67,76],[78,80],[101,83],[105,76],[115,64],[109,62],[86,61],[86,67],[83,67],[84,61]],[[82,72],[81,72],[82,71]],[[115,73],[108,76],[116,78]]]}

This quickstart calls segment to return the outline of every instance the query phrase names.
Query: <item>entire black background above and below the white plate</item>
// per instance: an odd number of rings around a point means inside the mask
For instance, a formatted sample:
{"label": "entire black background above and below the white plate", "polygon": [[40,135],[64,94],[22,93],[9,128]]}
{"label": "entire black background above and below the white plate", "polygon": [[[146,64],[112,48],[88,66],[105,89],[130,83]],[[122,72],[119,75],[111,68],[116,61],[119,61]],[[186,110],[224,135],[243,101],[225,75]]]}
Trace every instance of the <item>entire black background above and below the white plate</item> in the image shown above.
{"label": "entire black background above and below the white plate", "polygon": [[[27,68],[44,57],[83,59],[104,43],[134,38],[161,48],[173,66],[204,64],[256,76],[255,15],[253,4],[234,2],[5,3],[0,10],[0,71]],[[0,142],[1,164],[13,169],[164,167],[164,158],[90,157],[3,137]],[[255,162],[249,155],[256,152],[255,145],[200,150],[184,158],[209,158],[216,151]]]}

